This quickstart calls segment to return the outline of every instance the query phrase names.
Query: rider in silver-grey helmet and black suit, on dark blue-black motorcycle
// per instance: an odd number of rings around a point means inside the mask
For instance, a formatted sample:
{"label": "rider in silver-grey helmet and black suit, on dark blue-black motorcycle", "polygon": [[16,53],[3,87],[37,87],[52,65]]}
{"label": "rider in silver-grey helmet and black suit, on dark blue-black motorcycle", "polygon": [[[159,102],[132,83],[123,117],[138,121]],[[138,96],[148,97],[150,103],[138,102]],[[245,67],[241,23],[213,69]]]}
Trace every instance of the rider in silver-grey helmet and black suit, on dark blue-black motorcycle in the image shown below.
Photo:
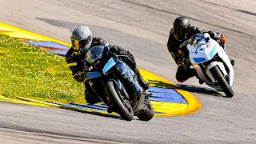
{"label": "rider in silver-grey helmet and black suit, on dark blue-black motorcycle", "polygon": [[[86,61],[86,51],[89,50],[93,46],[109,46],[110,52],[116,55],[122,55],[123,62],[126,62],[128,66],[132,70],[134,70],[135,74],[138,77],[139,85],[143,90],[148,90],[150,88],[150,84],[147,83],[143,78],[142,74],[138,71],[138,67],[136,66],[136,62],[133,54],[129,51],[123,49],[120,46],[109,45],[102,38],[93,38],[90,28],[88,26],[78,26],[74,29],[73,33],[70,36],[72,46],[70,50],[66,53],[66,62],[72,71],[73,78],[77,82],[84,82],[86,90],[85,90],[85,99],[86,102],[90,104],[94,104],[97,102],[102,102],[94,91],[90,88],[89,84],[85,82],[85,73],[83,72],[84,62]],[[146,94],[142,93],[140,98],[146,97]]]}

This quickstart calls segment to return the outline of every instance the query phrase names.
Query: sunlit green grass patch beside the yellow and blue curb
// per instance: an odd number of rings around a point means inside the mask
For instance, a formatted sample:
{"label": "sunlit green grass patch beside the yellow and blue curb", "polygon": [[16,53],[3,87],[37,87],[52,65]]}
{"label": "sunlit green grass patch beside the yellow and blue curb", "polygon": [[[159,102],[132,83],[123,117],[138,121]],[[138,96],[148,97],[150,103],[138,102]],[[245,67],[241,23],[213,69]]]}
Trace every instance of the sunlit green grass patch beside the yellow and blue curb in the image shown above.
{"label": "sunlit green grass patch beside the yellow and blue curb", "polygon": [[58,102],[83,101],[82,83],[65,58],[0,34],[0,94]]}

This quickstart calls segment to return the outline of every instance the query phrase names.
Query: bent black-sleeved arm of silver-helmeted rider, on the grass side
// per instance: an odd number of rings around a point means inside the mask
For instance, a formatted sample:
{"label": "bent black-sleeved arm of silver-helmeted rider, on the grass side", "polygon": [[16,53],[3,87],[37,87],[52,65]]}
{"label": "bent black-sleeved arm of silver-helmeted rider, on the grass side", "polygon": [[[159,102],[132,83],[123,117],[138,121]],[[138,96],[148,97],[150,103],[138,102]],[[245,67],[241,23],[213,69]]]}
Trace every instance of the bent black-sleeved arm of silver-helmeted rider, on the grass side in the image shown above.
{"label": "bent black-sleeved arm of silver-helmeted rider, on the grass side", "polygon": [[75,61],[73,54],[74,54],[74,49],[70,48],[70,50],[66,53],[66,56],[65,56],[66,63],[69,66],[70,70],[72,71],[73,78],[77,82],[83,82],[85,77],[84,77],[84,74],[82,73],[82,67],[79,65],[78,62]]}

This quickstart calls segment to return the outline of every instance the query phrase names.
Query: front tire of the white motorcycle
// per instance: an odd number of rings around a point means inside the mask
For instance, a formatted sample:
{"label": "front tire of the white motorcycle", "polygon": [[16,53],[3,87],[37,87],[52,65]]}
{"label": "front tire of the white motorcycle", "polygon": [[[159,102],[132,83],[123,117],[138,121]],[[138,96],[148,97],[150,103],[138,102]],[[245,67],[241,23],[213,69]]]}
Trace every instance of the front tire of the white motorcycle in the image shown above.
{"label": "front tire of the white motorcycle", "polygon": [[210,69],[211,74],[214,78],[218,80],[218,84],[222,87],[222,90],[226,94],[226,98],[232,98],[234,96],[234,91],[231,89],[226,79],[223,77],[221,70],[218,66],[214,66]]}

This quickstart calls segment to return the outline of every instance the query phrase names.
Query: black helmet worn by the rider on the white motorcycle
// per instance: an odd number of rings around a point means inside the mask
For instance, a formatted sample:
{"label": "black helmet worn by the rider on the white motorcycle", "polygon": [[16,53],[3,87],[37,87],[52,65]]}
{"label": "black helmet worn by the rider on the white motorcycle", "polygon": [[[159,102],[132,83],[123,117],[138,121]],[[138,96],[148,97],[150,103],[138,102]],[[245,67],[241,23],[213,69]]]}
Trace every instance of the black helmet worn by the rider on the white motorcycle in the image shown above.
{"label": "black helmet worn by the rider on the white motorcycle", "polygon": [[190,19],[186,17],[178,17],[174,21],[174,37],[178,41],[182,41],[186,38],[186,35],[190,32]]}

